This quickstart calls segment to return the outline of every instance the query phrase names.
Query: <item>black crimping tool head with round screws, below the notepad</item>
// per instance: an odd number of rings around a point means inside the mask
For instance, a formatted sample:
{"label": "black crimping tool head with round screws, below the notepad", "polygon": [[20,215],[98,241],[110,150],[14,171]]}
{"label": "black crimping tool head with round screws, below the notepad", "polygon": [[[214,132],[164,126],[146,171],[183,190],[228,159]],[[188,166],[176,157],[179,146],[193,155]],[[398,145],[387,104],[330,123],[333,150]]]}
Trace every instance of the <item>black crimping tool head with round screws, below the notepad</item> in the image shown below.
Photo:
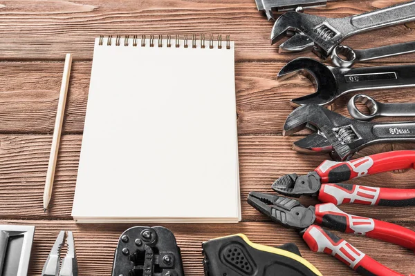
{"label": "black crimping tool head with round screws, below the notepad", "polygon": [[113,276],[184,276],[180,248],[164,227],[136,226],[122,233]]}

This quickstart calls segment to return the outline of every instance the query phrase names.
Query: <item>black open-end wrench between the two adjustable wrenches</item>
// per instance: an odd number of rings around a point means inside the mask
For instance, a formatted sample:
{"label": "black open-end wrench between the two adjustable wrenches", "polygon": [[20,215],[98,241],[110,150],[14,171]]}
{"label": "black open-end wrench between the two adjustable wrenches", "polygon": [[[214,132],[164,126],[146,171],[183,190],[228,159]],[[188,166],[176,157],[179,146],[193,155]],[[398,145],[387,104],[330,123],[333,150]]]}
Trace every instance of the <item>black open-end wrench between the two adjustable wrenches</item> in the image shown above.
{"label": "black open-end wrench between the two adjustable wrenches", "polygon": [[326,106],[352,91],[415,86],[415,65],[349,69],[325,66],[315,59],[299,57],[288,62],[278,77],[287,78],[298,72],[306,73],[304,75],[315,83],[317,91],[292,99],[293,106],[308,103]]}

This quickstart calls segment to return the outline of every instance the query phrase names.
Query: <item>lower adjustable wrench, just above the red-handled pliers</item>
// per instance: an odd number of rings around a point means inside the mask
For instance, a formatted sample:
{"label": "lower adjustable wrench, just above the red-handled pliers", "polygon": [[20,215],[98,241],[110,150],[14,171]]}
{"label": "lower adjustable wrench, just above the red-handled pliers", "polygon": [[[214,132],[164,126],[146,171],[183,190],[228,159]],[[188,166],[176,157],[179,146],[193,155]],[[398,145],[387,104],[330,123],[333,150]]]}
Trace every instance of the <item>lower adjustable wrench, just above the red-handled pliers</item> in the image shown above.
{"label": "lower adjustable wrench, just above the red-handled pliers", "polygon": [[296,108],[286,119],[283,135],[308,128],[314,133],[295,141],[298,152],[330,153],[336,161],[350,159],[355,152],[376,143],[415,141],[415,121],[377,124],[344,117],[317,104]]}

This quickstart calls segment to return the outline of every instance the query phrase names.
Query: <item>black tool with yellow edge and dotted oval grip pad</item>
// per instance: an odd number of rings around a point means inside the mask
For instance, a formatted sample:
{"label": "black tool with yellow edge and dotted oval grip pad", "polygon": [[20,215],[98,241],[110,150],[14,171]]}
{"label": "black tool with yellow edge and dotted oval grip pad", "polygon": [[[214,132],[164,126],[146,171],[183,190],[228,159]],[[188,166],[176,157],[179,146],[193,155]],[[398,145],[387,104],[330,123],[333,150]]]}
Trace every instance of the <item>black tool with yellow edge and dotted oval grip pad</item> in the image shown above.
{"label": "black tool with yellow edge and dotted oval grip pad", "polygon": [[243,234],[211,239],[202,244],[206,276],[322,276],[301,257],[295,244],[270,247],[250,242]]}

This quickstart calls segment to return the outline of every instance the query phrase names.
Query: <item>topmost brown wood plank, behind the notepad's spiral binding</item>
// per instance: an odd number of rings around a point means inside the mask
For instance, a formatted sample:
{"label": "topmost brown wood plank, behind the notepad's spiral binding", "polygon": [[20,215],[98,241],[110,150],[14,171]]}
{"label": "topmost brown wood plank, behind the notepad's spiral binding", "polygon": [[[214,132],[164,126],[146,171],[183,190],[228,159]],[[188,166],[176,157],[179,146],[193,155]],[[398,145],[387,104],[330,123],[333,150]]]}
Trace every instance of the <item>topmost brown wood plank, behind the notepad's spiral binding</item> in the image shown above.
{"label": "topmost brown wood plank, behind the notepad's spiral binding", "polygon": [[[307,12],[344,17],[404,1],[335,1]],[[3,60],[63,60],[66,52],[72,52],[74,59],[91,60],[93,39],[100,34],[193,33],[230,34],[236,41],[237,61],[291,59],[277,55],[277,46],[270,46],[273,21],[257,11],[253,0],[125,0],[116,4],[111,0],[5,0],[0,15]],[[413,38],[412,30],[402,25],[353,36],[347,44],[370,48]]]}

